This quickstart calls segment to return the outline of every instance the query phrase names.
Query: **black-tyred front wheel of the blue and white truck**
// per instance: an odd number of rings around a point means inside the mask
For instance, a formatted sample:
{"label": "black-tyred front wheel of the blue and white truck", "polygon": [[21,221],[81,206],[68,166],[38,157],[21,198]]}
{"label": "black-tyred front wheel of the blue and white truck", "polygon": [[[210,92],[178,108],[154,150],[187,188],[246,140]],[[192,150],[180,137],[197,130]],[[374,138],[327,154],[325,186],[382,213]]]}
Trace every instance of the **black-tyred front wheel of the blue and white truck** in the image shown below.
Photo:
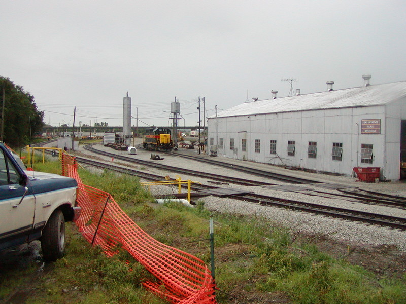
{"label": "black-tyred front wheel of the blue and white truck", "polygon": [[63,256],[65,250],[65,218],[60,210],[51,214],[42,231],[42,255],[46,261],[55,261]]}

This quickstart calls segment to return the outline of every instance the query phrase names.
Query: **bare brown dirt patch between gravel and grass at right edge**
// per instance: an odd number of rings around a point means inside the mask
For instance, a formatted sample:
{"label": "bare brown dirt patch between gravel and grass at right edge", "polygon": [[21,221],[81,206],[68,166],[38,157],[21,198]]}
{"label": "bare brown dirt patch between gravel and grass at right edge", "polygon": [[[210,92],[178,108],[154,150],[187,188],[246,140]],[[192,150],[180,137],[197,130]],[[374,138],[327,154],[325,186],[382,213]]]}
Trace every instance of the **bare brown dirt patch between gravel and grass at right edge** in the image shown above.
{"label": "bare brown dirt patch between gravel and grass at right edge", "polygon": [[378,278],[400,279],[406,274],[406,253],[392,245],[369,245],[349,241],[337,241],[322,234],[297,233],[298,242],[311,242],[320,251],[334,258],[343,258],[350,264],[359,265],[373,272]]}

